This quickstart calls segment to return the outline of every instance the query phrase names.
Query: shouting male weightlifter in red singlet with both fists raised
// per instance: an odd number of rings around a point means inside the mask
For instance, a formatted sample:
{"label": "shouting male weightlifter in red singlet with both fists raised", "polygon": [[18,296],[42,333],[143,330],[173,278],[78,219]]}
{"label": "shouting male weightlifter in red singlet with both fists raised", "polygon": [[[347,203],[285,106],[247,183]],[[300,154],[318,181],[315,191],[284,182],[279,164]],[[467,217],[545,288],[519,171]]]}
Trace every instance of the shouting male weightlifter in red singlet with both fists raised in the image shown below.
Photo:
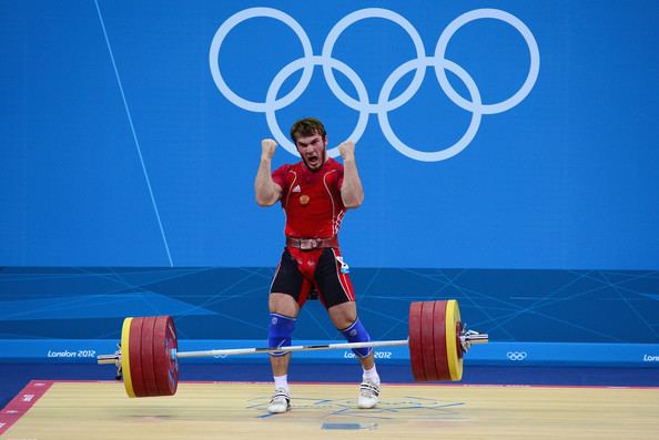
{"label": "shouting male weightlifter in red singlet with both fists raised", "polygon": [[[302,161],[283,165],[271,174],[276,143],[265,139],[261,142],[261,163],[254,182],[256,203],[271,206],[281,201],[286,214],[286,246],[270,289],[268,346],[291,345],[300,308],[312,287],[334,326],[349,342],[368,341],[371,337],[357,317],[348,266],[341,256],[337,239],[346,209],[358,207],[364,199],[355,144],[346,141],[338,146],[343,165],[327,157],[325,127],[313,117],[295,122],[291,139]],[[379,393],[373,349],[357,348],[353,352],[364,370],[357,407],[373,408]],[[290,352],[282,351],[270,357],[275,382],[270,412],[291,409],[290,358]]]}

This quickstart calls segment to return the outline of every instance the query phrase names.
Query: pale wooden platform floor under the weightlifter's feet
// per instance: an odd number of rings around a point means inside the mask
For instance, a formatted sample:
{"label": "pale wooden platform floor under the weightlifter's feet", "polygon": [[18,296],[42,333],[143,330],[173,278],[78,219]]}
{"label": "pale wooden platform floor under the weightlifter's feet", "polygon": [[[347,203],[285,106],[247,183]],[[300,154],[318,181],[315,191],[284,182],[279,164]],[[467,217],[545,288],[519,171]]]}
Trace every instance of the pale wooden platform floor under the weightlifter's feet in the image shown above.
{"label": "pale wooden platform floor under the weightlifter's feet", "polygon": [[[181,383],[129,399],[118,382],[55,382],[2,439],[658,439],[659,388],[292,385],[293,410],[265,411],[271,385]],[[359,432],[356,432],[356,431]]]}

